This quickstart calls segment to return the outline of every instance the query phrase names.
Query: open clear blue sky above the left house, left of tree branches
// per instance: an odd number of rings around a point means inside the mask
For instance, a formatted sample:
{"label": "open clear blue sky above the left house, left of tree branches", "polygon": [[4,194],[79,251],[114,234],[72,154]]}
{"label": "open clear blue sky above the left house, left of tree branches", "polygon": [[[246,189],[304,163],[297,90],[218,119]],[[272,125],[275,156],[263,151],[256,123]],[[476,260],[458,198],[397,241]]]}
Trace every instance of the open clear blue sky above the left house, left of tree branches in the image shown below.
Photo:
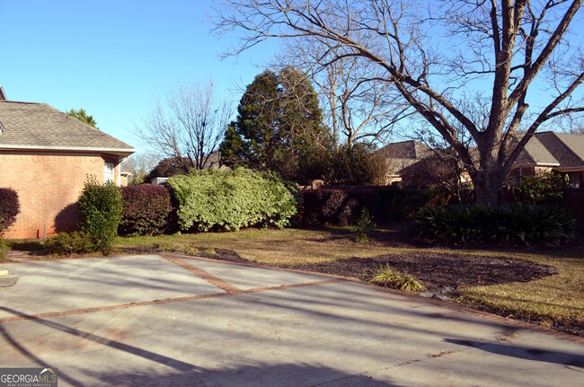
{"label": "open clear blue sky above the left house, left of tree branches", "polygon": [[132,134],[157,96],[212,79],[234,101],[276,42],[221,60],[230,41],[210,32],[209,0],[0,1],[0,84],[9,100],[84,108],[98,127]]}

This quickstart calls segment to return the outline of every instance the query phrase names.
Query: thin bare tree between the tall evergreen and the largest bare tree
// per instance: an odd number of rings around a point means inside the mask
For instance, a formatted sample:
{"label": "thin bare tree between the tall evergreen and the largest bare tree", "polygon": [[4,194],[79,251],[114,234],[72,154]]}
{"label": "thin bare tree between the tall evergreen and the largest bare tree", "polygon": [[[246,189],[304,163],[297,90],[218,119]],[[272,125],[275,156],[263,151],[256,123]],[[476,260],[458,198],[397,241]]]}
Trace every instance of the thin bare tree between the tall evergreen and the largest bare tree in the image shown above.
{"label": "thin bare tree between the tall evergreen and the largest bare tree", "polygon": [[[323,125],[331,128],[332,145],[383,142],[396,122],[411,115],[392,93],[379,68],[360,57],[345,57],[341,48],[310,37],[287,40],[280,66],[305,71],[316,86],[323,109]],[[325,64],[324,66],[321,64]]]}

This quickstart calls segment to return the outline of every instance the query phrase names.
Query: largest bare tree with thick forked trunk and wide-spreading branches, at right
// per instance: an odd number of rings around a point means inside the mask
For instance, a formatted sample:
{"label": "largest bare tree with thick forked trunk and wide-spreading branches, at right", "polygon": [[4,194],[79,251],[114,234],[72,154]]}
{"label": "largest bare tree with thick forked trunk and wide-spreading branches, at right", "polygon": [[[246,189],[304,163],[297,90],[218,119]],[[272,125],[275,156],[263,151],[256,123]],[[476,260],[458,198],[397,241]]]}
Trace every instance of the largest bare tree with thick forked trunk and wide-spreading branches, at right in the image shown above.
{"label": "largest bare tree with thick forked trunk and wide-spreading branches, at right", "polygon": [[[496,205],[505,176],[535,131],[550,119],[584,111],[577,92],[584,80],[581,37],[568,31],[581,4],[223,0],[215,9],[218,32],[241,33],[232,55],[270,38],[318,39],[336,50],[320,66],[345,57],[371,64],[467,166],[477,202]],[[461,110],[476,98],[488,102],[485,120]],[[476,156],[458,127],[472,138]]]}

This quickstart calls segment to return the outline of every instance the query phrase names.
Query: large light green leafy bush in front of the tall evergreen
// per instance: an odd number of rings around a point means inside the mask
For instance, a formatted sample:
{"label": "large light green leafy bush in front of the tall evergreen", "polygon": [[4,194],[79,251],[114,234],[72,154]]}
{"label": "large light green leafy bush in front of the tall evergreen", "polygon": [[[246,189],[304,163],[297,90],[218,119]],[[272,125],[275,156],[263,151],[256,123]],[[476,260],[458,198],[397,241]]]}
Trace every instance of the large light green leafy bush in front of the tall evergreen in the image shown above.
{"label": "large light green leafy bush in front of the tall evergreen", "polygon": [[167,182],[178,203],[181,230],[284,227],[297,211],[296,188],[270,172],[210,170],[173,176]]}

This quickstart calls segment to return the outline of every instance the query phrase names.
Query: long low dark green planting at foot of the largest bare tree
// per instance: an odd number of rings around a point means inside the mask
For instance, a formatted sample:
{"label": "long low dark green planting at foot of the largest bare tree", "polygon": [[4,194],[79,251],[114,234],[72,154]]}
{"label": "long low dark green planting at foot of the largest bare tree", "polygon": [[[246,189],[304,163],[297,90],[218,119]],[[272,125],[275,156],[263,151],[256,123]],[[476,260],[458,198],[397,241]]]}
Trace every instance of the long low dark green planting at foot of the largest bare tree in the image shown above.
{"label": "long low dark green planting at foot of the largest bare tree", "polygon": [[427,207],[412,215],[422,238],[450,244],[536,244],[570,240],[576,222],[556,207]]}

